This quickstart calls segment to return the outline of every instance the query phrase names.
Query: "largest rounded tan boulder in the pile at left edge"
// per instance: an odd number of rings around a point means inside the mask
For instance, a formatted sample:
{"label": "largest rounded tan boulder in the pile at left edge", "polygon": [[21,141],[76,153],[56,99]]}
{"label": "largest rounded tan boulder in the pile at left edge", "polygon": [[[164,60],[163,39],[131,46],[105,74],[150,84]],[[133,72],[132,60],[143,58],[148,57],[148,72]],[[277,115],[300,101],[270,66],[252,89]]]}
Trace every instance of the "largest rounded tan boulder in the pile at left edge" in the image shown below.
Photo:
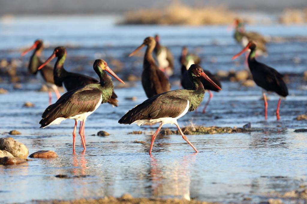
{"label": "largest rounded tan boulder in the pile at left edge", "polygon": [[0,149],[2,149],[2,151],[6,150],[13,156],[21,159],[25,159],[29,155],[28,148],[24,144],[15,141],[12,137],[0,138]]}

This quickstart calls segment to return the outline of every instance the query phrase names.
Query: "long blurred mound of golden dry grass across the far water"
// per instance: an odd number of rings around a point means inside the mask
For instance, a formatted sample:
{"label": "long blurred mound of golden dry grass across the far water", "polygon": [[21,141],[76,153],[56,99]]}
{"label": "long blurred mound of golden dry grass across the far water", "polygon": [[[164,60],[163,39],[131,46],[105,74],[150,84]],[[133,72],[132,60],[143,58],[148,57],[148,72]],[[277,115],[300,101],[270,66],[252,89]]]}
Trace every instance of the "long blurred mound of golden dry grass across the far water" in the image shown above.
{"label": "long blurred mound of golden dry grass across the far water", "polygon": [[124,24],[218,25],[228,24],[235,13],[226,7],[189,7],[172,2],[162,9],[143,9],[125,14]]}

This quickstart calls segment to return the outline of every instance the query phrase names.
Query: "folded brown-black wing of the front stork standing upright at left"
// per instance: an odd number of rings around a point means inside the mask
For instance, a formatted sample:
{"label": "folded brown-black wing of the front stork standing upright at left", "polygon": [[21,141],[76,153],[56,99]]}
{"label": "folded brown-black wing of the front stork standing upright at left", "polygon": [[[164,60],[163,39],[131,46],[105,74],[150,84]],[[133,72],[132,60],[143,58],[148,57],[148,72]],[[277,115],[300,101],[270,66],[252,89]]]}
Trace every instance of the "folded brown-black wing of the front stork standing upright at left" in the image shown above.
{"label": "folded brown-black wing of the front stork standing upright at left", "polygon": [[43,119],[40,121],[41,127],[49,125],[59,117],[68,118],[94,111],[100,98],[100,90],[91,86],[84,86],[68,91],[56,103],[47,107],[42,115]]}

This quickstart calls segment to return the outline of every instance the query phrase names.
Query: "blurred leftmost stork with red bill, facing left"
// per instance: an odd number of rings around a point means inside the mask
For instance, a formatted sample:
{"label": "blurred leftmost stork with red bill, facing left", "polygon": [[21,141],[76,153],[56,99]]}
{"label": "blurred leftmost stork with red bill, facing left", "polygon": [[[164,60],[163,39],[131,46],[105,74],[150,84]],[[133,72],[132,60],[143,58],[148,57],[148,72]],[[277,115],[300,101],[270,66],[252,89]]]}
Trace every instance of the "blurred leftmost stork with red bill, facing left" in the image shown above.
{"label": "blurred leftmost stork with red bill, facing left", "polygon": [[[34,52],[32,56],[30,57],[28,70],[29,70],[29,73],[33,75],[37,75],[38,67],[41,66],[41,64],[43,64],[40,59],[41,53],[44,49],[43,41],[35,40],[34,44],[29,49],[21,53],[21,56],[24,56],[26,53],[30,52],[33,49],[34,49]],[[42,78],[41,81],[43,81],[45,85],[48,87],[49,105],[51,105],[51,100],[52,100],[51,90],[52,89],[56,93],[57,99],[59,99],[61,96],[57,89],[57,86],[54,84],[53,68],[50,67],[49,65],[46,65],[44,69],[41,69],[39,72],[40,74],[38,76]]]}

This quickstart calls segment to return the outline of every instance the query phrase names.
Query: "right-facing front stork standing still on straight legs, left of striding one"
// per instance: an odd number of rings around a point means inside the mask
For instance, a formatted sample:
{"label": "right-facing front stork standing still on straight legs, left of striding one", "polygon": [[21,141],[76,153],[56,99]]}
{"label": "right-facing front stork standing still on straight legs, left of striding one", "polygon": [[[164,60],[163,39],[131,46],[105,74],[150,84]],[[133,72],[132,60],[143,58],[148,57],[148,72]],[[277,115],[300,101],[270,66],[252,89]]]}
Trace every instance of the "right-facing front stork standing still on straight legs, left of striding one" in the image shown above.
{"label": "right-facing front stork standing still on straight legs, left of striding one", "polygon": [[80,136],[85,148],[84,124],[86,118],[91,115],[102,103],[106,103],[112,96],[113,83],[109,72],[115,79],[124,83],[111,69],[107,62],[101,59],[95,60],[94,70],[99,76],[99,83],[91,83],[78,87],[63,94],[56,103],[48,106],[42,115],[41,128],[52,124],[60,124],[66,119],[74,119],[75,127],[72,133],[73,151],[75,151],[76,127],[78,121],[83,121]]}

